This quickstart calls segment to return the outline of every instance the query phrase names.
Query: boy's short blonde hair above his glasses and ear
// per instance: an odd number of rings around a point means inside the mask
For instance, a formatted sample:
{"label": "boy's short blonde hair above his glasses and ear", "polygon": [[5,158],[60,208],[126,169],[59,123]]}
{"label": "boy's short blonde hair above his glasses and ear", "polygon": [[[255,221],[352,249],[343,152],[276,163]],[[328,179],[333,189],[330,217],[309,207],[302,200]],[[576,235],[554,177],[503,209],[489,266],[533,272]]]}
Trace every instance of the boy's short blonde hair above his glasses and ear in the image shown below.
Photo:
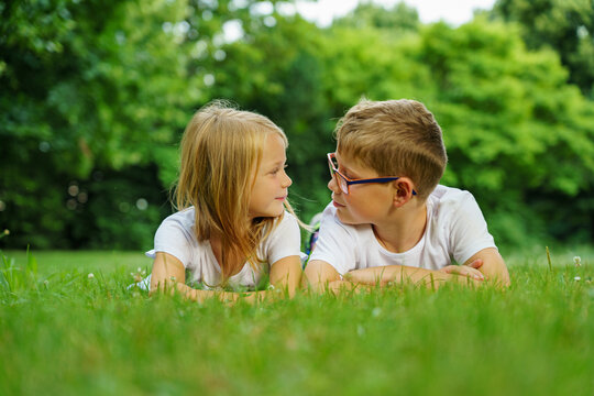
{"label": "boy's short blonde hair above his glasses and ear", "polygon": [[421,199],[436,188],[448,163],[441,128],[415,100],[363,99],[339,121],[337,151],[378,176],[409,177]]}

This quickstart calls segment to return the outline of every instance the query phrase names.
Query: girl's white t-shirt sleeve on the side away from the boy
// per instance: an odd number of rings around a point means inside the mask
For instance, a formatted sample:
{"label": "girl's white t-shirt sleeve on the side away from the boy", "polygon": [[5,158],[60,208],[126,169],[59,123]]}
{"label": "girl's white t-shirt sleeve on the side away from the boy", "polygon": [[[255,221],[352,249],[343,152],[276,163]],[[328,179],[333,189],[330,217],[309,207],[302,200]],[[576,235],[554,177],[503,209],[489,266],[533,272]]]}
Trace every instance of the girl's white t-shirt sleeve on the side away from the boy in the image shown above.
{"label": "girl's white t-shirt sleeve on the side away from the boy", "polygon": [[191,261],[191,246],[196,244],[194,230],[175,218],[165,219],[155,233],[154,252],[168,253],[187,267]]}

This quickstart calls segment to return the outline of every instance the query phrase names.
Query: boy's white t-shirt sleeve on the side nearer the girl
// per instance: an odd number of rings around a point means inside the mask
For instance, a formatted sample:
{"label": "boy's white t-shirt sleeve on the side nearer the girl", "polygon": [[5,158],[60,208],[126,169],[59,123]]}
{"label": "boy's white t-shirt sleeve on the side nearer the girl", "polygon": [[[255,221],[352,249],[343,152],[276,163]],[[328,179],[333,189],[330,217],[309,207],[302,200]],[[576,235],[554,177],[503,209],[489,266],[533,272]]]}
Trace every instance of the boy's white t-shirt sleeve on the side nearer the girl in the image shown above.
{"label": "boy's white t-shirt sleeve on the side nearer the girl", "polygon": [[356,268],[355,252],[356,241],[348,226],[341,223],[336,216],[336,209],[329,205],[323,211],[318,242],[309,261],[324,261],[342,276]]}

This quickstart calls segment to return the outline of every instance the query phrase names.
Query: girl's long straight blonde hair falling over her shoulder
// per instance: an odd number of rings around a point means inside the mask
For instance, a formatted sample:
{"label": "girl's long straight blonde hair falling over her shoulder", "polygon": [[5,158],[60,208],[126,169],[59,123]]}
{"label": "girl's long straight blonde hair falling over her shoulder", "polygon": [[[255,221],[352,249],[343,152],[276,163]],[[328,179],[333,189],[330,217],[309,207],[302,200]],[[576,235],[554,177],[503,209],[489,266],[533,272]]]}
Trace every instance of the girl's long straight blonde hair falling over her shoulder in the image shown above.
{"label": "girl's long straight blonde hair falling over her shoulder", "polygon": [[[229,257],[246,257],[254,268],[264,262],[257,246],[283,218],[248,221],[252,186],[271,133],[288,146],[285,133],[266,117],[218,100],[194,114],[182,139],[177,210],[194,206],[198,241],[221,237],[223,284],[245,263]],[[285,207],[294,213],[287,201]]]}

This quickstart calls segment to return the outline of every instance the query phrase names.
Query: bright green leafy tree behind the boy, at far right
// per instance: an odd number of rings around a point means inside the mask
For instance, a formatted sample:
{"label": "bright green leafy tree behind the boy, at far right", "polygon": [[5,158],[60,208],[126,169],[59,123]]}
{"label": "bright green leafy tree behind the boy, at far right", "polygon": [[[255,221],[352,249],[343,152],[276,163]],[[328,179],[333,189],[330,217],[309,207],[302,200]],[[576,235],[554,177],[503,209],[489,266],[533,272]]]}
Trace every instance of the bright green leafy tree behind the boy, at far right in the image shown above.
{"label": "bright green leafy tree behind the boy, at far right", "polygon": [[558,55],[479,18],[427,28],[419,61],[439,87],[429,105],[450,157],[444,183],[473,191],[507,243],[592,238],[592,212],[575,208],[594,187],[594,103]]}

